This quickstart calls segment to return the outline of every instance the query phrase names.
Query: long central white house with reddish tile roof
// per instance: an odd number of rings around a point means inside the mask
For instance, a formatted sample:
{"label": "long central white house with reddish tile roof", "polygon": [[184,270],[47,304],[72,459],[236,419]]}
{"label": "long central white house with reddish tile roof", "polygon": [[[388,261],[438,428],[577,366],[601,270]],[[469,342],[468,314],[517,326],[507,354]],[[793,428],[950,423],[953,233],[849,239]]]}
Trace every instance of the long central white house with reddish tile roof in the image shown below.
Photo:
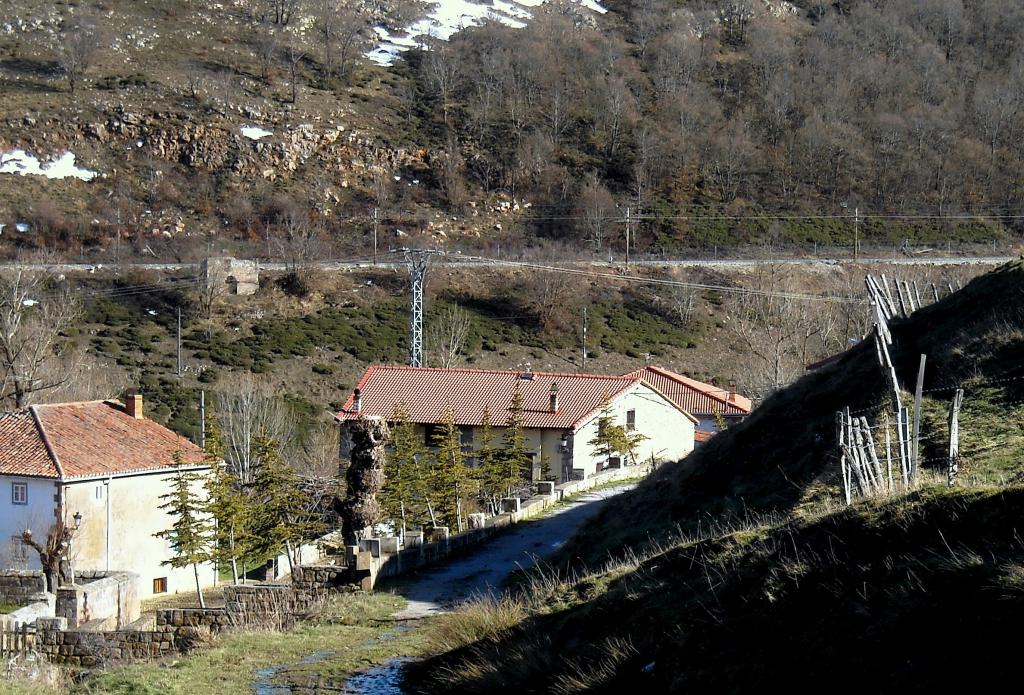
{"label": "long central white house with reddish tile roof", "polygon": [[678,461],[693,450],[696,419],[639,376],[374,365],[337,414],[342,458],[348,457],[346,423],[360,416],[390,420],[398,405],[409,411],[427,444],[451,407],[467,451],[478,444],[487,407],[497,441],[516,390],[522,395],[523,433],[534,455],[535,480],[542,479],[545,463],[559,482],[592,476],[606,465],[588,443],[597,433],[605,398],[620,424],[648,437],[638,448],[638,461],[652,454]]}

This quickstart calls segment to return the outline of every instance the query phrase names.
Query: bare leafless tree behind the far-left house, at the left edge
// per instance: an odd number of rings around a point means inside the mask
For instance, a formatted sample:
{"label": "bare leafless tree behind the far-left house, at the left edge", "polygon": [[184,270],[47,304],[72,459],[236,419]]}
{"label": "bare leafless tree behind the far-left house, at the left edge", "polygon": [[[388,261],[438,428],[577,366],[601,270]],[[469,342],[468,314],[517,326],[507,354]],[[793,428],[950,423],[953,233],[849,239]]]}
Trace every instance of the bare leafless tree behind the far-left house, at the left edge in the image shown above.
{"label": "bare leafless tree behind the far-left house, at the left edge", "polygon": [[78,315],[78,303],[49,273],[16,268],[0,277],[0,400],[25,407],[71,379],[75,364],[60,334]]}

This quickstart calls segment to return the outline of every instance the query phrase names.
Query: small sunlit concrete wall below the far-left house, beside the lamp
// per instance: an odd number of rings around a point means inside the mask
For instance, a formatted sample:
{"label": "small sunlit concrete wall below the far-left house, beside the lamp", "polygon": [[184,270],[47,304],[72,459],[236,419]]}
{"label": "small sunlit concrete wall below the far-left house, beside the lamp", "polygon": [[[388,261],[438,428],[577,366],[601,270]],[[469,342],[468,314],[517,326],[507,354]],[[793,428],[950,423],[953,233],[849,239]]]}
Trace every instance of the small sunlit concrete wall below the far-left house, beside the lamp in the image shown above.
{"label": "small sunlit concrete wall below the far-left house, beside the lamp", "polygon": [[74,587],[57,589],[55,614],[70,627],[91,623],[94,629],[121,629],[141,612],[137,574],[79,572]]}

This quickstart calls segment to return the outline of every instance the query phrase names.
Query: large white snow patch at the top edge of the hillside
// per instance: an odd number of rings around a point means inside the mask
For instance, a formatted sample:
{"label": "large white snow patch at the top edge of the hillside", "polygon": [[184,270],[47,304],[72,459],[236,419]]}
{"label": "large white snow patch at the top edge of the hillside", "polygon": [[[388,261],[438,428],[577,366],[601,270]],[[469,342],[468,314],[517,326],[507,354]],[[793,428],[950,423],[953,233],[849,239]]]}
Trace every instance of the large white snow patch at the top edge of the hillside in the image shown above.
{"label": "large white snow patch at the top edge of the hillside", "polygon": [[[484,21],[522,29],[532,14],[528,7],[539,7],[547,0],[486,0],[486,4],[474,0],[438,0],[433,3],[427,15],[392,34],[383,27],[377,27],[379,43],[367,52],[367,57],[379,66],[392,64],[403,51],[424,46],[427,38],[447,41],[467,27],[479,27]],[[583,7],[599,14],[607,10],[596,0],[577,0]]]}

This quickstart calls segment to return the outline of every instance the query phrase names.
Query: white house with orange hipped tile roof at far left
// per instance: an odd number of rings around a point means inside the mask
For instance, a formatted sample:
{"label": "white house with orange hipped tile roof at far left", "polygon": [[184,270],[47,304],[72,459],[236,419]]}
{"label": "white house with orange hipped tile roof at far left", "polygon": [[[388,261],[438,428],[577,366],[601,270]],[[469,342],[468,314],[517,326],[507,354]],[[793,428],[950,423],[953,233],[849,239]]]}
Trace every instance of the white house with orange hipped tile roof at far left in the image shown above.
{"label": "white house with orange hipped tile roof at far left", "polygon": [[[209,468],[201,448],[143,417],[141,396],[0,414],[0,566],[38,568],[22,532],[43,538],[55,518],[74,525],[81,514],[76,571],[135,572],[143,598],[194,591],[191,569],[162,565],[171,552],[154,537],[173,523],[160,495],[171,490],[175,450],[189,469]],[[201,566],[201,583],[214,584],[215,574]]]}

